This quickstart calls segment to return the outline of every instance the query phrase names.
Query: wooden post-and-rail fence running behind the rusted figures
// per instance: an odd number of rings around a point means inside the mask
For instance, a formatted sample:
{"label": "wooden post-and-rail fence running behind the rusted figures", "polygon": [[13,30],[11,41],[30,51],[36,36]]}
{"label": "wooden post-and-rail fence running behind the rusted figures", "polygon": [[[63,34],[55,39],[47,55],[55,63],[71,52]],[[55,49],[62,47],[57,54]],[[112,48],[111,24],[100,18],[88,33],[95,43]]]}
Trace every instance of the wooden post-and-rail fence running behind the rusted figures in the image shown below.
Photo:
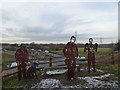
{"label": "wooden post-and-rail fence running behind the rusted figures", "polygon": [[[64,58],[61,58],[60,60],[58,60],[57,58],[55,59],[39,58],[36,60],[38,61],[38,64],[39,64],[37,69],[44,69],[46,71],[48,69],[67,68],[64,62]],[[35,61],[35,59],[33,59],[32,61]],[[79,63],[80,62],[77,60],[77,64],[76,64],[77,67],[79,67]],[[17,72],[18,72],[17,67],[10,68],[8,70],[2,71],[2,77],[10,76],[10,75],[16,74]]]}

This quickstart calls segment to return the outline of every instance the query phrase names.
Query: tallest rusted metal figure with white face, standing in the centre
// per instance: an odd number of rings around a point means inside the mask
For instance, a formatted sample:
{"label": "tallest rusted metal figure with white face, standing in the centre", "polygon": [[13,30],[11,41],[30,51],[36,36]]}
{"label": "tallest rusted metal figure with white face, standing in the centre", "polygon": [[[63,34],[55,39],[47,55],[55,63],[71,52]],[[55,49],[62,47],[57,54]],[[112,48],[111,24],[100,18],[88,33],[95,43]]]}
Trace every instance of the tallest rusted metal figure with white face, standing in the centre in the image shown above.
{"label": "tallest rusted metal figure with white face, standing in the centre", "polygon": [[68,42],[63,48],[63,54],[66,57],[65,64],[68,68],[67,80],[75,79],[76,57],[78,57],[78,48],[75,41],[76,37],[72,36],[70,42]]}

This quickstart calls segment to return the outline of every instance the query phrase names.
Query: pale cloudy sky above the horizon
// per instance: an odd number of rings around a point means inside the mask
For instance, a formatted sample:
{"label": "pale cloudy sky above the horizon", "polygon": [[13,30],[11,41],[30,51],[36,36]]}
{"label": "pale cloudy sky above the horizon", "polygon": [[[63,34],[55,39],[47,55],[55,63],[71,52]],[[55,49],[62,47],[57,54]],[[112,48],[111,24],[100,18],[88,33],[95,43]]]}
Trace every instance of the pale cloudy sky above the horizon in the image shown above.
{"label": "pale cloudy sky above the horizon", "polygon": [[117,2],[3,2],[0,11],[2,42],[118,41]]}

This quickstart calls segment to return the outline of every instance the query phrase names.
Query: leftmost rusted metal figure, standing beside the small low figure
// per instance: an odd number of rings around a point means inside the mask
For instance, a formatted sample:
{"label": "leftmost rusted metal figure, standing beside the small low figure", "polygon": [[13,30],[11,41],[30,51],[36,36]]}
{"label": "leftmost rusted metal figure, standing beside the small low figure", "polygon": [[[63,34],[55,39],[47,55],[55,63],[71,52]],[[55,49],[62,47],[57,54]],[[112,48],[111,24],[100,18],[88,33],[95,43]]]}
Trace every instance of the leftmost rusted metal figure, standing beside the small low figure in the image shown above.
{"label": "leftmost rusted metal figure, standing beside the small low figure", "polygon": [[26,78],[26,64],[28,63],[28,51],[25,44],[21,44],[20,48],[15,53],[15,59],[18,68],[18,80]]}

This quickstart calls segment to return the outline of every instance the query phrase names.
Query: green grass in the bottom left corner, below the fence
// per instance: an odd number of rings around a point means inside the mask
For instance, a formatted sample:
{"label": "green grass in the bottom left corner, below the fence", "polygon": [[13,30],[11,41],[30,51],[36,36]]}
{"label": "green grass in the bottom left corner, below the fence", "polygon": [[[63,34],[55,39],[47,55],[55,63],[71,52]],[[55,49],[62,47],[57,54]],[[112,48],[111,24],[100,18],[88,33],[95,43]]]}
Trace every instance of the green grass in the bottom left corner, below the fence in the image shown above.
{"label": "green grass in the bottom left corner, below the fence", "polygon": [[[37,70],[37,74],[41,76],[42,72],[40,70]],[[29,88],[36,82],[37,82],[37,78],[24,79],[24,80],[18,81],[17,74],[14,74],[14,75],[2,78],[2,87],[3,88]]]}

